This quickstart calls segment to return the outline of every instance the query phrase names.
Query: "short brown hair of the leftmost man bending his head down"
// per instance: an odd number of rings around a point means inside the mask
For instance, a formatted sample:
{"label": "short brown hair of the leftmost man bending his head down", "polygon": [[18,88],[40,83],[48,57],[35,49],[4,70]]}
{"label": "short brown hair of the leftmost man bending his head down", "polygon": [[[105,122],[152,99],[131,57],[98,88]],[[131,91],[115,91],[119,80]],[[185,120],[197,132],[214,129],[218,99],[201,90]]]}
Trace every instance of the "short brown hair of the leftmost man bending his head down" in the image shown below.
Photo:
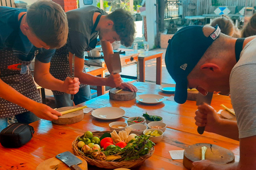
{"label": "short brown hair of the leftmost man bending his head down", "polygon": [[57,3],[39,0],[28,8],[26,21],[36,37],[51,48],[60,48],[67,42],[67,15]]}

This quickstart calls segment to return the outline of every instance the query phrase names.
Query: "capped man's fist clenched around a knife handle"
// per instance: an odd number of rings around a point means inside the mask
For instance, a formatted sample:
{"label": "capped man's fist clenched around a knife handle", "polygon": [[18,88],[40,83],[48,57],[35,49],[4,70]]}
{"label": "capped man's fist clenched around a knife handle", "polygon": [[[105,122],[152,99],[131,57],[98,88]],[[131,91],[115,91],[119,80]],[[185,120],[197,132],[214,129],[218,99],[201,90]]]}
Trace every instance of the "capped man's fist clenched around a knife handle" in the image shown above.
{"label": "capped man's fist clenched around a knife handle", "polygon": [[205,126],[205,131],[214,132],[214,129],[219,124],[220,118],[210,105],[203,104],[198,106],[195,120],[197,126]]}

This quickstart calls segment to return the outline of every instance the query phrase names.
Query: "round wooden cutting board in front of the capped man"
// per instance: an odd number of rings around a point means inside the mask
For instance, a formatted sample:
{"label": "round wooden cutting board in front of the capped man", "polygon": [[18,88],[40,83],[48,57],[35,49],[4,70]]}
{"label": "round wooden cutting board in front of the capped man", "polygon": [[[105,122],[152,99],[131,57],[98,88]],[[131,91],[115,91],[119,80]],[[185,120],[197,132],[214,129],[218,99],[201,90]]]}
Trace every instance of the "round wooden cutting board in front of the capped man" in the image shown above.
{"label": "round wooden cutting board in front of the capped man", "polygon": [[233,152],[226,148],[212,145],[210,143],[196,143],[187,147],[184,151],[183,165],[191,169],[192,163],[202,159],[202,147],[207,147],[205,159],[210,160],[215,164],[229,164],[235,162]]}

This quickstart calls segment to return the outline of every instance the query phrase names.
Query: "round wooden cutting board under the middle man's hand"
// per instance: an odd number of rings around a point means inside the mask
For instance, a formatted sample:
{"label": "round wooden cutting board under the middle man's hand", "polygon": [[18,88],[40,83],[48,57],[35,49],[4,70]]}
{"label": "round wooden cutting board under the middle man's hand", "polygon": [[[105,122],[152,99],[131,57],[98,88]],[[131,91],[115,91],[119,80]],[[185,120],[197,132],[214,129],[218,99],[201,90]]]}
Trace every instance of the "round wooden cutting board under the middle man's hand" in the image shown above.
{"label": "round wooden cutting board under the middle man's hand", "polygon": [[136,92],[122,90],[116,94],[115,92],[118,90],[119,89],[116,89],[116,88],[111,89],[109,91],[109,98],[112,100],[127,101],[127,100],[132,100],[136,97]]}

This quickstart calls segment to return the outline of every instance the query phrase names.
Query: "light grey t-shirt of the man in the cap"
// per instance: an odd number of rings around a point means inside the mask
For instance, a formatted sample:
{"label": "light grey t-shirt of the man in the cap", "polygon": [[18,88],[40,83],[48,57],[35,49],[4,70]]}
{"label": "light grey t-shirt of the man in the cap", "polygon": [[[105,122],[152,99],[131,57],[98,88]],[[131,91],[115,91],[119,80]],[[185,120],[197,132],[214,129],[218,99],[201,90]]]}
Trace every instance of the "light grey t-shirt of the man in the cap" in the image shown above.
{"label": "light grey t-shirt of the man in the cap", "polygon": [[242,50],[229,83],[239,138],[256,135],[256,38]]}

